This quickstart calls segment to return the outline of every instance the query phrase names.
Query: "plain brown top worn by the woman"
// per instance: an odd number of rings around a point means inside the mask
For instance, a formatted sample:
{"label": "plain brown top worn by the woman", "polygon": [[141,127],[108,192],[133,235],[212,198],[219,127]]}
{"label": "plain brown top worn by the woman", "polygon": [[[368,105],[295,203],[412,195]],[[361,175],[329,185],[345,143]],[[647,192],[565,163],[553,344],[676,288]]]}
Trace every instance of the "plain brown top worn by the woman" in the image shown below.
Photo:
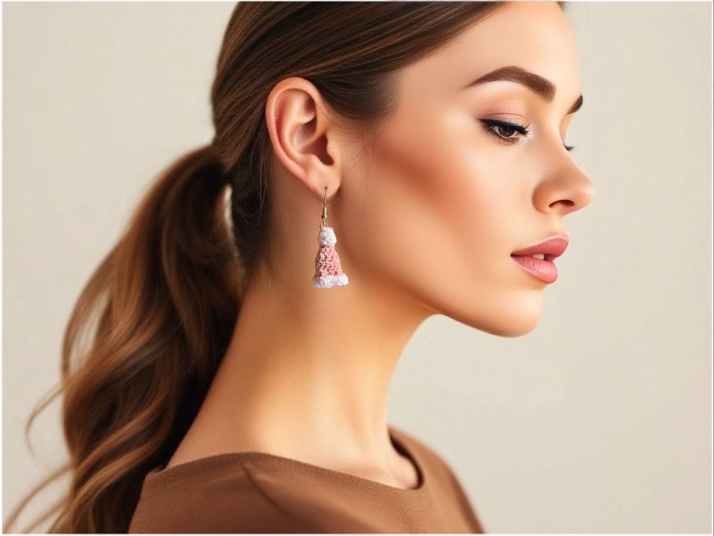
{"label": "plain brown top worn by the woman", "polygon": [[451,467],[389,427],[418,471],[400,488],[267,452],[149,471],[129,532],[484,532]]}

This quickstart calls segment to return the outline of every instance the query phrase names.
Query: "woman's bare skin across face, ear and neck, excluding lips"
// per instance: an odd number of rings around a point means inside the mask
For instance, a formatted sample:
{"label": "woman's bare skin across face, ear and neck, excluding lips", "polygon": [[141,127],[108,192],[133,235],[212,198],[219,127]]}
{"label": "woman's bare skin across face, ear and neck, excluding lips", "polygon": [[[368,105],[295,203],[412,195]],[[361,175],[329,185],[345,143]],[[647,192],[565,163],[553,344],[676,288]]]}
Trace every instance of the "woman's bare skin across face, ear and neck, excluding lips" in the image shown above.
{"label": "woman's bare skin across face, ear and neck, excluding lips", "polygon": [[[513,81],[463,89],[509,65],[553,81],[553,100]],[[309,81],[290,77],[271,90],[275,271],[248,285],[226,356],[169,466],[253,450],[414,487],[416,469],[388,436],[386,400],[419,324],[445,314],[515,337],[538,323],[546,284],[511,252],[565,234],[565,215],[593,196],[563,147],[581,92],[565,14],[554,3],[508,3],[401,74],[398,109],[373,147]],[[483,118],[531,132],[508,144]],[[349,284],[317,289],[325,187]]]}

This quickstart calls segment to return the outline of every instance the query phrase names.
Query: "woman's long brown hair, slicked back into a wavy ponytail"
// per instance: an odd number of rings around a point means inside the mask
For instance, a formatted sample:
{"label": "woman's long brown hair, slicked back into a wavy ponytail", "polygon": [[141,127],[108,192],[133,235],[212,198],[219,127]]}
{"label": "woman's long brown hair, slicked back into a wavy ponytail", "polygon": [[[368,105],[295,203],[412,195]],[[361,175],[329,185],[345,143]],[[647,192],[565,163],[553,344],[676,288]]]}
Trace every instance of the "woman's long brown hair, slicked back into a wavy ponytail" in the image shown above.
{"label": "woman's long brown hair, slicked back into a wavy ponytail", "polygon": [[61,381],[25,428],[28,436],[36,415],[62,394],[69,461],[21,500],[4,530],[68,471],[69,490],[27,531],[54,514],[49,532],[128,530],[146,472],[169,460],[203,401],[243,288],[267,249],[271,143],[263,114],[272,87],[302,76],[369,132],[396,106],[396,70],[501,4],[236,5],[211,87],[213,142],[159,174],[74,304]]}

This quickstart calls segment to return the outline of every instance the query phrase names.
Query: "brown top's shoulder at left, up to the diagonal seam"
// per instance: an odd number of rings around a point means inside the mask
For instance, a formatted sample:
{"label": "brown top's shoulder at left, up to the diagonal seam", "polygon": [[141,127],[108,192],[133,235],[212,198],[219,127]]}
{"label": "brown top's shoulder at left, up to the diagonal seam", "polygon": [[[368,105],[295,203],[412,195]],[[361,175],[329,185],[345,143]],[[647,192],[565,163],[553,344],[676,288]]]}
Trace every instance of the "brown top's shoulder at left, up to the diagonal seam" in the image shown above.
{"label": "brown top's shoulder at left, up to the diagonal seam", "polygon": [[313,532],[253,476],[230,454],[151,471],[128,532]]}

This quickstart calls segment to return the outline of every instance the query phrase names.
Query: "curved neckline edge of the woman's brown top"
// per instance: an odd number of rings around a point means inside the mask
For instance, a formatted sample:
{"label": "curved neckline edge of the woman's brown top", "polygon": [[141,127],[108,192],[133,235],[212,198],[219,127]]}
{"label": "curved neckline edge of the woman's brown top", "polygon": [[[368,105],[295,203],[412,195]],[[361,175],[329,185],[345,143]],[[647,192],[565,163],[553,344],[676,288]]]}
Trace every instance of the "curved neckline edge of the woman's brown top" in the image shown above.
{"label": "curved neckline edge of the woman's brown top", "polygon": [[396,450],[398,450],[399,452],[401,452],[401,454],[405,455],[408,458],[408,460],[411,462],[417,472],[417,484],[415,487],[397,487],[388,484],[383,484],[383,482],[377,482],[376,480],[358,477],[357,475],[352,475],[351,473],[347,472],[328,469],[327,467],[303,462],[301,460],[296,460],[295,458],[271,454],[270,452],[260,452],[256,450],[246,450],[243,452],[220,452],[218,454],[196,458],[195,460],[189,460],[188,462],[181,462],[177,465],[172,465],[171,467],[165,467],[164,465],[160,465],[158,467],[154,467],[154,469],[149,470],[149,472],[146,474],[146,479],[161,480],[164,478],[171,478],[174,476],[182,475],[185,472],[190,472],[193,469],[198,469],[199,467],[213,465],[220,462],[263,459],[271,460],[286,465],[291,465],[294,467],[302,467],[303,469],[322,473],[324,475],[331,475],[333,477],[340,477],[346,480],[352,480],[353,482],[358,482],[358,484],[360,485],[373,487],[379,490],[386,490],[388,492],[401,493],[403,495],[417,495],[425,492],[428,482],[426,482],[426,475],[423,470],[421,458],[418,457],[418,455],[416,454],[416,449],[413,448],[413,443],[411,443],[408,437],[405,437],[403,433],[398,430],[395,430],[391,426],[388,427],[388,432],[392,445],[394,445]]}

